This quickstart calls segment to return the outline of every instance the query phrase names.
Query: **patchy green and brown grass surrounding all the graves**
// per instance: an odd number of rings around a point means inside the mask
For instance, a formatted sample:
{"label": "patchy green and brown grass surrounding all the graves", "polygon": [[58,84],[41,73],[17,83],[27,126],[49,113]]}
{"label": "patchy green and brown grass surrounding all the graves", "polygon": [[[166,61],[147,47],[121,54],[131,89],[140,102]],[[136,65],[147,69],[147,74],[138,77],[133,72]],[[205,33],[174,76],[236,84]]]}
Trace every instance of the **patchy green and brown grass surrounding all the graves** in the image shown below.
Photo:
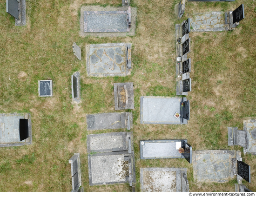
{"label": "patchy green and brown grass surrounding all the graves", "polygon": [[[243,120],[256,117],[256,3],[251,0],[221,3],[186,3],[182,20],[192,13],[228,11],[244,3],[245,19],[235,31],[190,33],[192,92],[188,125],[141,125],[140,97],[174,97],[175,4],[178,0],[131,0],[137,7],[136,34],[132,37],[79,37],[81,5],[120,5],[119,0],[27,0],[27,26],[15,27],[0,0],[0,112],[29,112],[33,144],[0,148],[0,191],[70,191],[68,159],[79,152],[85,191],[130,191],[128,184],[89,186],[86,135],[125,130],[87,131],[86,114],[115,112],[113,83],[133,82],[132,110],[136,167],[136,191],[140,191],[141,167],[185,167],[190,191],[234,191],[236,181],[225,184],[196,183],[192,164],[185,159],[140,159],[140,140],[188,139],[193,150],[231,149],[227,126],[243,129]],[[72,52],[76,42],[82,61]],[[132,74],[127,77],[89,78],[85,46],[132,43]],[[81,103],[71,95],[71,75],[81,72]],[[38,97],[38,80],[53,80],[53,97]],[[243,155],[243,153],[242,153]],[[256,156],[243,155],[251,166],[256,190]]]}

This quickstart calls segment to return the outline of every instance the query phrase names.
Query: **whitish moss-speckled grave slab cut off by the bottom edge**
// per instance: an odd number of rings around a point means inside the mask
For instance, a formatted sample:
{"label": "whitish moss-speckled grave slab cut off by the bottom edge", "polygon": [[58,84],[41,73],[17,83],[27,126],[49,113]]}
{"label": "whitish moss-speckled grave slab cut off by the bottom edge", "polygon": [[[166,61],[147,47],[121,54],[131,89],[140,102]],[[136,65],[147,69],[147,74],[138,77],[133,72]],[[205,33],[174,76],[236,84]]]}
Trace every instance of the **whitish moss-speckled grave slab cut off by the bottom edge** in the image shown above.
{"label": "whitish moss-speckled grave slab cut off by the bottom edge", "polygon": [[[187,168],[141,168],[141,191],[189,191],[186,174]],[[184,177],[187,180],[183,181]]]}

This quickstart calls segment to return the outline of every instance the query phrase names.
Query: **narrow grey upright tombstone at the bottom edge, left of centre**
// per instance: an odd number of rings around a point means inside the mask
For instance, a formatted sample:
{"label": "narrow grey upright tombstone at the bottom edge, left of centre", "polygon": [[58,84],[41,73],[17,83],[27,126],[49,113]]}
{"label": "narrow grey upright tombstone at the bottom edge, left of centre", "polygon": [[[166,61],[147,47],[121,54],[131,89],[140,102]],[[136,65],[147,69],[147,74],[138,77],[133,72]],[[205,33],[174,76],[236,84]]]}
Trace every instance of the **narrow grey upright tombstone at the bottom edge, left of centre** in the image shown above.
{"label": "narrow grey upright tombstone at the bottom edge, left of centre", "polygon": [[68,160],[71,164],[72,191],[78,191],[81,183],[80,154],[74,153],[74,156]]}

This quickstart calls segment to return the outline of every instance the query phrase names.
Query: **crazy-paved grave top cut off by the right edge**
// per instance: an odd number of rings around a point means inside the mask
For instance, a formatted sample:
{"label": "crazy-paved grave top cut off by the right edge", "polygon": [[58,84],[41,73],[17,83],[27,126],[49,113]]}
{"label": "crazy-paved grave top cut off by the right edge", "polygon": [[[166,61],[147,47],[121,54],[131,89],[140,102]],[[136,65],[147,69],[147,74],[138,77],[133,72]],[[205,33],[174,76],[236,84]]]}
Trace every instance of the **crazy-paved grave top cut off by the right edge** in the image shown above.
{"label": "crazy-paved grave top cut off by the right edge", "polygon": [[243,152],[256,155],[256,120],[244,120],[243,130],[246,131],[248,139],[248,148],[243,148]]}

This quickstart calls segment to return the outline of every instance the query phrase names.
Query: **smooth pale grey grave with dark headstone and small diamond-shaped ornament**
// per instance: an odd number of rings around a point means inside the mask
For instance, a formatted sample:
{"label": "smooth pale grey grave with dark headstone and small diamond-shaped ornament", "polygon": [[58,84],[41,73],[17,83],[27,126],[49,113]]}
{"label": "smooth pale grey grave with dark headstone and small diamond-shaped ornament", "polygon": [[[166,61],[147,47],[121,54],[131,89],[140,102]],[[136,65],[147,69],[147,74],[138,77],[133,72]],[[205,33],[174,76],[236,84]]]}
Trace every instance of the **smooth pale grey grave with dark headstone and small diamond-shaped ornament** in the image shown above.
{"label": "smooth pale grey grave with dark headstone and small diamond-shaped ornament", "polygon": [[[186,98],[142,96],[141,124],[187,124],[189,120],[189,102],[183,107],[182,103],[185,101],[187,101]],[[176,112],[181,114],[179,118],[175,118]]]}

